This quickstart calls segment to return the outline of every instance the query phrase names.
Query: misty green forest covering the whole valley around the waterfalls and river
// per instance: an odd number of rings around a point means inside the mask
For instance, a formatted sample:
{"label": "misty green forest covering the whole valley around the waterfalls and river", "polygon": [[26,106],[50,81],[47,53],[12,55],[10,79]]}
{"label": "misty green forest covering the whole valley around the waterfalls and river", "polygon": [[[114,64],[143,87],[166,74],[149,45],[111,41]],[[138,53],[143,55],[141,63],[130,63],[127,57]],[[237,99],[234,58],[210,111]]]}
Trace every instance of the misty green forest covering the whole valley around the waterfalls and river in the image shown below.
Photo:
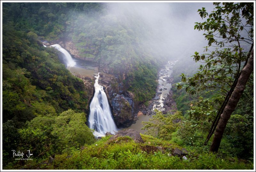
{"label": "misty green forest covering the whole valley around the waterfalls and river", "polygon": [[[184,45],[171,33],[182,26],[159,24],[169,19],[140,11],[157,3],[1,4],[1,169],[255,170],[255,3],[196,3],[200,9],[191,10],[197,18],[183,31],[197,31],[201,38],[182,33]],[[167,18],[173,8],[187,8],[166,4],[158,7]],[[189,15],[180,12],[180,18]],[[99,66],[95,74],[116,78],[102,91],[108,99],[109,92],[120,92],[136,117],[157,97],[161,69],[176,60],[168,88],[175,108],[155,109],[142,122],[142,142],[111,133],[95,137],[88,127],[88,85],[62,63],[57,49],[42,43],[61,41],[72,42],[79,60]],[[108,100],[112,112],[114,100]],[[126,115],[125,108],[117,112]],[[28,150],[33,160],[14,154],[29,158]]]}

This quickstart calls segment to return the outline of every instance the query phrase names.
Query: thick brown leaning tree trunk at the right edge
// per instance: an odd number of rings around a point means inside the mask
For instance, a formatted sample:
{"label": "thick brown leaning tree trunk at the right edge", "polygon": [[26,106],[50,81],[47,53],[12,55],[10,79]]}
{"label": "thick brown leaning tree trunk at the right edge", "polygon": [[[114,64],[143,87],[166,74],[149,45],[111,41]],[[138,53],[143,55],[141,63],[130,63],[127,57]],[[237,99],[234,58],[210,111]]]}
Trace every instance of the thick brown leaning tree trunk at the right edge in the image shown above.
{"label": "thick brown leaning tree trunk at the right edge", "polygon": [[241,75],[238,78],[236,87],[233,93],[231,94],[231,97],[229,98],[228,103],[223,110],[223,113],[220,115],[220,121],[214,133],[210,152],[218,152],[218,149],[220,147],[220,141],[223,136],[224,130],[226,128],[226,125],[228,123],[228,120],[230,118],[230,115],[235,110],[236,105],[245,89],[246,82],[248,81],[253,71],[253,58],[254,56],[253,56],[253,50],[252,50],[251,56],[248,59],[247,64],[244,66],[241,72]]}

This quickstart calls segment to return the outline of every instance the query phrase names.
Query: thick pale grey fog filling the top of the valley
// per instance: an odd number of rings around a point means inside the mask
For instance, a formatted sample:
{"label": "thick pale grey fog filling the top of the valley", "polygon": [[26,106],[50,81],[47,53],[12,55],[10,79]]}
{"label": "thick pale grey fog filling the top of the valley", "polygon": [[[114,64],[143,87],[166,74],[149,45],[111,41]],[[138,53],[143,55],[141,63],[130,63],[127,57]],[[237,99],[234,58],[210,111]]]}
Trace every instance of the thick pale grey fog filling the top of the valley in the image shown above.
{"label": "thick pale grey fog filling the top of the valley", "polygon": [[[202,22],[197,10],[214,8],[212,3],[108,3],[107,14],[133,24],[133,17],[147,25],[148,35],[143,45],[153,47],[170,59],[191,58],[195,51],[203,52],[207,41],[204,31],[194,30],[195,22]],[[136,25],[136,23],[134,23]],[[143,29],[141,29],[143,32]]]}

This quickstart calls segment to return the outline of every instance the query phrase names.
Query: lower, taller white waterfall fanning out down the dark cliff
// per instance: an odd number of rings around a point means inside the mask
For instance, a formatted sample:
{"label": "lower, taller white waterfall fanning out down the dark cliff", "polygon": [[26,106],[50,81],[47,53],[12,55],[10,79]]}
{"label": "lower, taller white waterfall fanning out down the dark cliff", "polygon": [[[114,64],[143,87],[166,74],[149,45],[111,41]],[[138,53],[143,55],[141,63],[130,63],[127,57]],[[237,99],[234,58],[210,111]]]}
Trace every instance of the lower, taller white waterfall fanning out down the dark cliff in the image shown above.
{"label": "lower, taller white waterfall fanning out down the dark cliff", "polygon": [[90,104],[89,127],[94,129],[94,136],[105,136],[106,132],[112,134],[117,131],[116,124],[113,120],[108,98],[103,87],[98,83],[100,74],[95,76],[95,93]]}

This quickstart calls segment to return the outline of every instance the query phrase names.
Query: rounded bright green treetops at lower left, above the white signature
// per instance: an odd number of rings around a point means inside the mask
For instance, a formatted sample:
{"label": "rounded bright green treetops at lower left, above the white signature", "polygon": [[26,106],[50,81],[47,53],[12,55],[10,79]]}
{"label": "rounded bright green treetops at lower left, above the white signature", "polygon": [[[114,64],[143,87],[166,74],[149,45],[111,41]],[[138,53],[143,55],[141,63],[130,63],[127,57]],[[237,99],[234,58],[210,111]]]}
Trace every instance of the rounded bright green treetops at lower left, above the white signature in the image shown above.
{"label": "rounded bright green treetops at lower left, above the white signature", "polygon": [[[3,124],[3,163],[15,164],[11,150],[33,153],[35,161],[48,158],[56,153],[77,149],[84,144],[92,144],[95,138],[92,130],[85,124],[84,113],[75,113],[69,109],[60,115],[39,115],[26,122],[25,127],[16,129],[11,120]],[[18,160],[19,161],[19,160]]]}

